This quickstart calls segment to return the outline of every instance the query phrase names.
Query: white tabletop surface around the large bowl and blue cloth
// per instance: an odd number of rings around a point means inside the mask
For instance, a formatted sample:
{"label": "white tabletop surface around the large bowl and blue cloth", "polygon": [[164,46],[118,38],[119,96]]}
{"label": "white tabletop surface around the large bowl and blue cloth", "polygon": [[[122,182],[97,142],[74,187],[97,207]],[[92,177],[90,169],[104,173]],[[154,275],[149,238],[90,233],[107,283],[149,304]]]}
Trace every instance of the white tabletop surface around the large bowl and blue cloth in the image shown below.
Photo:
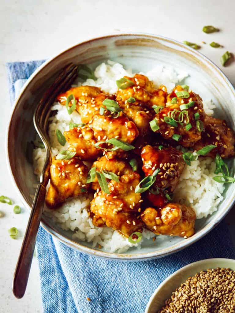
{"label": "white tabletop surface around the large bowl and blue cloth", "polygon": [[[80,41],[103,34],[146,32],[201,44],[200,51],[222,68],[235,85],[235,62],[222,67],[219,61],[226,50],[235,53],[234,0],[2,0],[0,4],[0,194],[13,198],[16,204],[20,204],[20,199],[9,178],[3,148],[11,111],[4,69],[6,62],[47,59]],[[221,32],[205,34],[202,32],[204,25],[218,27]],[[211,48],[208,44],[212,41],[224,48]],[[5,213],[0,218],[0,312],[42,312],[36,257],[24,298],[15,299],[11,291],[28,211],[15,215],[13,207],[2,203],[0,210]],[[234,213],[229,213],[226,219],[232,233]],[[12,226],[20,230],[20,239],[9,238],[8,229]],[[232,235],[235,243],[235,231]]]}

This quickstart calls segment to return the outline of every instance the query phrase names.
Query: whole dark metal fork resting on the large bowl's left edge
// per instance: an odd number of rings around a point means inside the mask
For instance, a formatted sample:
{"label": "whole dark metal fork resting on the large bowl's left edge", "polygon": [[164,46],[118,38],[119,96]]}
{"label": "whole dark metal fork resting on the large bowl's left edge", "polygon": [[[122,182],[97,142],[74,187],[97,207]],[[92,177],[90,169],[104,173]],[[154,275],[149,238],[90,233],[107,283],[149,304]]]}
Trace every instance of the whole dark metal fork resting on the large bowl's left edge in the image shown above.
{"label": "whole dark metal fork resting on the large bowl's left edge", "polygon": [[69,88],[72,81],[77,76],[77,68],[78,66],[72,63],[66,66],[55,79],[54,83],[46,90],[34,111],[33,124],[45,146],[46,160],[40,176],[40,182],[35,192],[28,225],[13,277],[13,294],[16,298],[22,298],[26,290],[38,228],[45,204],[46,186],[49,181],[49,170],[52,160],[49,137],[47,134],[49,117],[51,115],[50,107],[56,95]]}

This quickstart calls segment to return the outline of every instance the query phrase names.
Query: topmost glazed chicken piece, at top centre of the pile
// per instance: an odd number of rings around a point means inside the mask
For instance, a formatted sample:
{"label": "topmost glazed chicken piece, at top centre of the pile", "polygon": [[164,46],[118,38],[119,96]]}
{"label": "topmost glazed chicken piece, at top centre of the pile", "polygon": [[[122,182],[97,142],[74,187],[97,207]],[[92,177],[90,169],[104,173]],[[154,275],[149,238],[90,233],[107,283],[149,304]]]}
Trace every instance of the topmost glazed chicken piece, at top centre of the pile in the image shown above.
{"label": "topmost glazed chicken piece, at top centre of the pile", "polygon": [[[140,135],[144,136],[150,131],[149,122],[154,115],[152,106],[165,106],[166,87],[160,86],[160,89],[155,89],[153,82],[140,74],[135,74],[134,77],[124,76],[124,78],[132,81],[134,85],[126,89],[119,89],[116,101],[125,115],[135,123]],[[135,102],[128,102],[130,97],[134,98]]]}

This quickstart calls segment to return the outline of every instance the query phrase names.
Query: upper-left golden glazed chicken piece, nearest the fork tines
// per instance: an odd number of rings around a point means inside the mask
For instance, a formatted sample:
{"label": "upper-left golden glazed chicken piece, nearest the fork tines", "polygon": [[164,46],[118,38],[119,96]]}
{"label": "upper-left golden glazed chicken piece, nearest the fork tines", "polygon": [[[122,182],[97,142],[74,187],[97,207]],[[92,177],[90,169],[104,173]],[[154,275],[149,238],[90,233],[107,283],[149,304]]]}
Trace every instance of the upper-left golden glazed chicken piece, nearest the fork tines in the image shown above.
{"label": "upper-left golden glazed chicken piece, nearest the fork tines", "polygon": [[76,110],[81,115],[83,123],[87,124],[93,115],[99,113],[100,107],[106,98],[112,99],[112,96],[102,93],[100,88],[94,86],[79,86],[70,88],[63,94],[58,95],[57,100],[62,104],[66,104],[69,95],[74,95],[77,100]]}

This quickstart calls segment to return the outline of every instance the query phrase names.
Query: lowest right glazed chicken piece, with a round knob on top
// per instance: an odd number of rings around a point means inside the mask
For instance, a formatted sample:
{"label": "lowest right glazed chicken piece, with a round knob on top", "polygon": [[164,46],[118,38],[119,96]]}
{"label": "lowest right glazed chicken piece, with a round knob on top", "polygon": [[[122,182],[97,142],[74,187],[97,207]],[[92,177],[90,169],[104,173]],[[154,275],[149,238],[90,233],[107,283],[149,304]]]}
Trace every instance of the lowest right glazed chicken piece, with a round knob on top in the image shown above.
{"label": "lowest right glazed chicken piece, with a round knob on top", "polygon": [[194,234],[196,214],[179,203],[168,203],[160,209],[146,208],[140,215],[143,223],[156,235],[190,237]]}

